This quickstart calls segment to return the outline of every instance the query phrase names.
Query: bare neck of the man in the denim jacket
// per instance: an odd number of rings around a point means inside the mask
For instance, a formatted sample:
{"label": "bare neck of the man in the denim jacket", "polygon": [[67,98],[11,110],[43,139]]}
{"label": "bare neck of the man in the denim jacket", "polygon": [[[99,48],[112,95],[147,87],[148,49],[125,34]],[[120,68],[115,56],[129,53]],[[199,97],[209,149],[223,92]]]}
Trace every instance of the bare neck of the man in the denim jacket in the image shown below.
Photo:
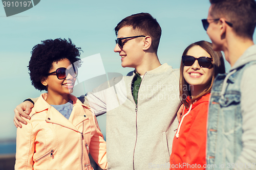
{"label": "bare neck of the man in the denim jacket", "polygon": [[234,35],[230,36],[229,39],[227,39],[227,42],[224,45],[222,51],[224,52],[225,58],[229,62],[231,67],[253,44],[254,43],[251,39],[241,38]]}

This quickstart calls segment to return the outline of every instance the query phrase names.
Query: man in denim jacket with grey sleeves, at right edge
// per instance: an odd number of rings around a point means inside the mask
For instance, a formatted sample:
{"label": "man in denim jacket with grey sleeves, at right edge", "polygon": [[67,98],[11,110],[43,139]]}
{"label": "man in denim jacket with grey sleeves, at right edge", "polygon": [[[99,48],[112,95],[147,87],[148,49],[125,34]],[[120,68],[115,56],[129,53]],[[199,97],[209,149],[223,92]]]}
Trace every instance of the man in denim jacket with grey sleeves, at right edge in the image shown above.
{"label": "man in denim jacket with grey sleeves, at right edge", "polygon": [[207,169],[256,169],[256,25],[254,0],[210,0],[204,29],[231,69],[212,86]]}

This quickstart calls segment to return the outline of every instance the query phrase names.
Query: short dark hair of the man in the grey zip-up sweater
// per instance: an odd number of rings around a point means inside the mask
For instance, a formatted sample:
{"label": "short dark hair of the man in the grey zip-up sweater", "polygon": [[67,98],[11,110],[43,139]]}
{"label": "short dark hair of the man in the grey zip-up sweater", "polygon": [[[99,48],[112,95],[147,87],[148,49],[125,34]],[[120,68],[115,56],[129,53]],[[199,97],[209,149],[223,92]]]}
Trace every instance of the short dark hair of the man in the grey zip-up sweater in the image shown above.
{"label": "short dark hair of the man in the grey zip-up sweater", "polygon": [[157,20],[148,13],[138,13],[122,19],[115,28],[116,36],[123,27],[132,27],[138,35],[150,36],[152,38],[153,50],[157,53],[161,37],[161,27]]}

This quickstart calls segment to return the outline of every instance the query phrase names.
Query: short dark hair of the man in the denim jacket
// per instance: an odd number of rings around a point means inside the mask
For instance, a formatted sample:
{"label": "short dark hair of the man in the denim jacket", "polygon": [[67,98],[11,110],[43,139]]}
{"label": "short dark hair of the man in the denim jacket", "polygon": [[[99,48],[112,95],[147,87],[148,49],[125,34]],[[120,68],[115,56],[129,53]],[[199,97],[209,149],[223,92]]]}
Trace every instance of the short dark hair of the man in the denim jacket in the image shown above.
{"label": "short dark hair of the man in the denim jacket", "polygon": [[256,26],[256,2],[254,0],[210,0],[210,15],[225,17],[233,24],[238,36],[252,39]]}

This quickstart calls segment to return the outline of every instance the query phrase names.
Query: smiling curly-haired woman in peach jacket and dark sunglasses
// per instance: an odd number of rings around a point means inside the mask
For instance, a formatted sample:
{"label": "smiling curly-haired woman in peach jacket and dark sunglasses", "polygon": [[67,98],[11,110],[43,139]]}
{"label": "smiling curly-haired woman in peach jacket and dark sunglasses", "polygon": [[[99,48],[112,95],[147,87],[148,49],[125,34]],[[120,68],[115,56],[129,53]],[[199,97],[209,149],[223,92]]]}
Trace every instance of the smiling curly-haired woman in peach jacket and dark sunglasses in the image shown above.
{"label": "smiling curly-haired woman in peach jacket and dark sunglasses", "polygon": [[80,51],[70,39],[48,39],[33,47],[30,79],[47,93],[35,103],[28,125],[17,129],[15,169],[93,169],[89,151],[101,168],[108,167],[93,111],[70,94]]}

